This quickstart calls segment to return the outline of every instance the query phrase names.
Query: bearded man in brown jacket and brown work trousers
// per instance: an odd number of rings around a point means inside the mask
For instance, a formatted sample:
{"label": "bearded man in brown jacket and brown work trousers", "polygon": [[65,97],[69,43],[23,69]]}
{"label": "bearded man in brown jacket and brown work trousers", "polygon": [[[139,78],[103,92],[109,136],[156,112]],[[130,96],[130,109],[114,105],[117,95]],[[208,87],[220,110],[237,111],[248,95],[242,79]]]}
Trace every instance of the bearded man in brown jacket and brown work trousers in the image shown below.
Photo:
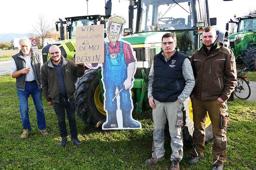
{"label": "bearded man in brown jacket and brown work trousers", "polygon": [[191,57],[196,84],[190,95],[194,145],[193,155],[188,163],[195,164],[199,159],[204,158],[204,128],[208,112],[214,136],[212,170],[222,170],[226,161],[226,126],[229,120],[226,101],[236,84],[234,54],[232,50],[224,47],[221,41],[216,40],[217,36],[213,27],[205,27],[202,33],[203,44]]}

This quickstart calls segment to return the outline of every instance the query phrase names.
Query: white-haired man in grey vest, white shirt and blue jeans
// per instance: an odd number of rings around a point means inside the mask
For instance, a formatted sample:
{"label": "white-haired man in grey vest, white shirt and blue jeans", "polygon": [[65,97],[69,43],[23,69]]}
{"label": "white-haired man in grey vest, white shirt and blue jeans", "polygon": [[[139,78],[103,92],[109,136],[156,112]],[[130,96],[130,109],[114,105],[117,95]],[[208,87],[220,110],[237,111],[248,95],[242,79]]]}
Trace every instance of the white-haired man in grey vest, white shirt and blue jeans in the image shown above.
{"label": "white-haired man in grey vest, white shirt and blue jeans", "polygon": [[20,102],[20,116],[22,120],[22,139],[27,139],[31,131],[28,116],[28,97],[31,95],[36,108],[37,125],[43,136],[48,135],[42,104],[40,68],[42,57],[31,49],[31,41],[24,37],[19,40],[20,52],[12,56],[11,76],[16,78],[16,88]]}

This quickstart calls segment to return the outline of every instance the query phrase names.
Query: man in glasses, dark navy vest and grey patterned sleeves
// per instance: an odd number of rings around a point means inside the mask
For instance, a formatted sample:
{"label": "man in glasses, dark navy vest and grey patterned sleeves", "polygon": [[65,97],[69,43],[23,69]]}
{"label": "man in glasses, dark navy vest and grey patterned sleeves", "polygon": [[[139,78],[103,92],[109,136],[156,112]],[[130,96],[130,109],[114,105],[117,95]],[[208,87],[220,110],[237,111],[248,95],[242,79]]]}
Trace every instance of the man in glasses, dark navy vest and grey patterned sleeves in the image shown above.
{"label": "man in glasses, dark navy vest and grey patterned sleeves", "polygon": [[166,33],[162,37],[162,51],[154,56],[148,76],[148,100],[154,121],[153,153],[146,164],[164,160],[164,128],[166,119],[171,136],[172,165],[170,170],[180,170],[183,157],[183,102],[195,84],[188,56],[176,50],[176,36]]}

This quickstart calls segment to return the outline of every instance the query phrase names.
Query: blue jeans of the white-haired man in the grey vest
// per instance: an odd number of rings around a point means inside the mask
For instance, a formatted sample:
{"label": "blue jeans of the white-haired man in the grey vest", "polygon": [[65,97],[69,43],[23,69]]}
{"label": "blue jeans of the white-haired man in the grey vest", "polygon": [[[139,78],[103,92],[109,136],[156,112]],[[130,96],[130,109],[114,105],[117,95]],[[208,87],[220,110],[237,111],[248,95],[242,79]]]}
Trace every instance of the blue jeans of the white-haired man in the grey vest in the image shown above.
{"label": "blue jeans of the white-haired man in the grey vest", "polygon": [[20,116],[22,120],[23,129],[28,129],[31,131],[31,125],[28,116],[28,97],[32,96],[34,101],[34,106],[36,107],[36,117],[38,129],[46,129],[46,122],[44,117],[44,108],[42,103],[41,89],[38,89],[37,83],[27,83],[25,84],[25,90],[17,90],[18,98],[20,102]]}

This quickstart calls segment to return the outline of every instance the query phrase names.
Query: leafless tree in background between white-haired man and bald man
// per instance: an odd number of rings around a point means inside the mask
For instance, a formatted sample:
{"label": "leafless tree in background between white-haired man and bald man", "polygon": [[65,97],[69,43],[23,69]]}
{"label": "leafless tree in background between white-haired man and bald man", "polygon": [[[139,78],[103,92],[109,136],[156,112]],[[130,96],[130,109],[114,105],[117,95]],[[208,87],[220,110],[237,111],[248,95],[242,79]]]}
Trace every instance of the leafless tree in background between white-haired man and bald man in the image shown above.
{"label": "leafless tree in background between white-haired man and bald man", "polygon": [[50,25],[42,14],[38,16],[38,22],[34,26],[34,29],[39,33],[42,39],[42,41],[39,41],[41,47],[44,47],[44,39],[51,38],[54,34],[53,25]]}

